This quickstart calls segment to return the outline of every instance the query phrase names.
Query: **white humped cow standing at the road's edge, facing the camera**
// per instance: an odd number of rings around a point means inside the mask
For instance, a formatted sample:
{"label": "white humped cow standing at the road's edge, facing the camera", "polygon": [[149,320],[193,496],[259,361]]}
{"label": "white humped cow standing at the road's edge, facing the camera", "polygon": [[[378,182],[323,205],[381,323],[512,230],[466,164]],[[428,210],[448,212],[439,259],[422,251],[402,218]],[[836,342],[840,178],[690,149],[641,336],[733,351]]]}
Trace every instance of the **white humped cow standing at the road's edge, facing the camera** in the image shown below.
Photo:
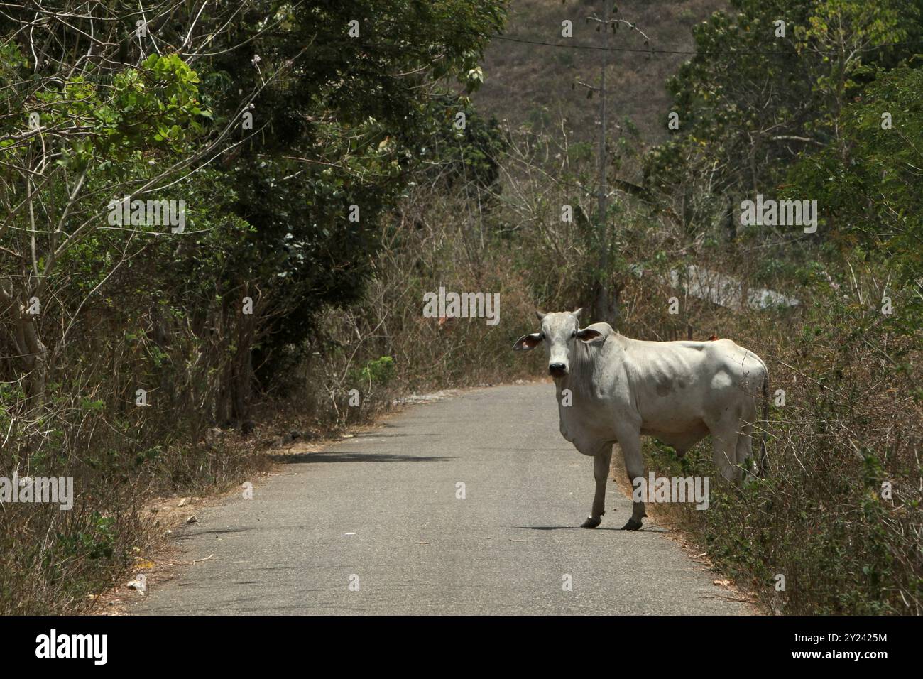
{"label": "white humped cow standing at the road's edge, facing the camera", "polygon": [[[715,466],[725,479],[739,481],[742,465],[752,455],[756,394],[762,389],[763,398],[768,396],[768,371],[761,358],[727,339],[641,342],[615,332],[608,323],[581,330],[581,310],[537,311],[542,331],[523,335],[513,349],[545,346],[561,434],[593,457],[596,493],[582,527],[599,526],[605,514],[613,443],[622,449],[629,482],[644,477],[642,434],[673,446],[682,456],[711,433]],[[568,400],[570,405],[565,405]],[[764,400],[764,419],[766,407]],[[762,467],[765,455],[763,441]],[[637,530],[643,516],[644,503],[634,503],[623,529]]]}

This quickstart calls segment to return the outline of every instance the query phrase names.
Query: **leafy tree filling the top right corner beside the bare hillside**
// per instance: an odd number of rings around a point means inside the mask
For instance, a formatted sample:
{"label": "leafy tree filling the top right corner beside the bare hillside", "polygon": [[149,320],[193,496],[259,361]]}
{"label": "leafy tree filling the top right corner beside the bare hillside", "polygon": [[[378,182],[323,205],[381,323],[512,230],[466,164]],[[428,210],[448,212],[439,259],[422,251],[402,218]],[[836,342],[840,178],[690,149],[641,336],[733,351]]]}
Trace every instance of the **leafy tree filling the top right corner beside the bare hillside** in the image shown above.
{"label": "leafy tree filling the top right corner beside the bare hillside", "polygon": [[[839,111],[874,75],[915,54],[918,0],[733,0],[693,30],[697,55],[667,83],[677,138],[652,152],[651,187],[689,236],[769,193],[801,154],[838,143]],[[785,35],[782,35],[784,22]]]}

